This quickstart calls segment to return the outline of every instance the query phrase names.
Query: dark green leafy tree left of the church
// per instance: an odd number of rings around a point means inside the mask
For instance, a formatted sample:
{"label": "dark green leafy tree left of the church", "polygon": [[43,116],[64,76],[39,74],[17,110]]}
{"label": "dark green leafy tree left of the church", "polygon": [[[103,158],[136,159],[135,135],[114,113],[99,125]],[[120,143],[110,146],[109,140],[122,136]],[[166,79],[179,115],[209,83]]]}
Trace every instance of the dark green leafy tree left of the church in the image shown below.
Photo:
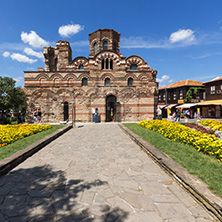
{"label": "dark green leafy tree left of the church", "polygon": [[13,111],[18,116],[19,111],[25,114],[26,94],[21,87],[15,87],[16,81],[9,77],[0,76],[0,121],[8,123],[8,113]]}

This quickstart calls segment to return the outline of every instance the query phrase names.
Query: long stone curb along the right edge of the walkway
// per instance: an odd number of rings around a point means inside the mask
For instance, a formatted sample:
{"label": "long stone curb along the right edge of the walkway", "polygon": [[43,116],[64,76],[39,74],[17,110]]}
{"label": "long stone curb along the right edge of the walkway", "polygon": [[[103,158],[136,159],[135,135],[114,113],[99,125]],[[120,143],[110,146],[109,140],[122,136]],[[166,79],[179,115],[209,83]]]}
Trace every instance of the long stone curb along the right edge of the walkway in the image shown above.
{"label": "long stone curb along the right edge of the walkway", "polygon": [[143,149],[155,162],[161,166],[167,173],[172,175],[183,188],[193,195],[206,209],[222,221],[222,199],[212,193],[207,184],[200,180],[197,176],[189,174],[189,172],[180,166],[177,162],[165,155],[161,150],[149,144],[146,140],[129,130],[123,124],[120,128],[135,141],[141,149]]}

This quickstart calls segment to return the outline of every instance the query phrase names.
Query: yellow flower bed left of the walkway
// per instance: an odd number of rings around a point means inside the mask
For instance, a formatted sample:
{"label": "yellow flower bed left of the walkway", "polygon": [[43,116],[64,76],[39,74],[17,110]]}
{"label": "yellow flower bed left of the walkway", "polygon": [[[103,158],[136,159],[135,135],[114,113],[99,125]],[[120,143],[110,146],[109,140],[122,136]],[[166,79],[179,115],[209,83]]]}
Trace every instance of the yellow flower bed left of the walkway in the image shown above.
{"label": "yellow flower bed left of the walkway", "polygon": [[50,128],[51,125],[0,125],[0,147]]}

